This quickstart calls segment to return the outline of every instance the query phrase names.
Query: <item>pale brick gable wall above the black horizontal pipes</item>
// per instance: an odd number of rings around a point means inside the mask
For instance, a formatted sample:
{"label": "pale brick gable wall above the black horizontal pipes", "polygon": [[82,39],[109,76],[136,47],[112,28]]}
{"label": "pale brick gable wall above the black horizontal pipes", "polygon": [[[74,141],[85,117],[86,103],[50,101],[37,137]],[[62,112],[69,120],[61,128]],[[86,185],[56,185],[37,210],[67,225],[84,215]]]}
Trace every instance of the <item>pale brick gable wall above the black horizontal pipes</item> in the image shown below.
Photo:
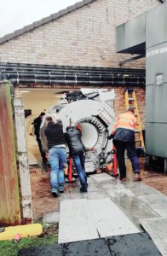
{"label": "pale brick gable wall above the black horizontal pipes", "polygon": [[[158,0],[96,0],[0,45],[1,62],[118,67],[115,26],[152,9]],[[144,67],[135,61],[124,67]]]}

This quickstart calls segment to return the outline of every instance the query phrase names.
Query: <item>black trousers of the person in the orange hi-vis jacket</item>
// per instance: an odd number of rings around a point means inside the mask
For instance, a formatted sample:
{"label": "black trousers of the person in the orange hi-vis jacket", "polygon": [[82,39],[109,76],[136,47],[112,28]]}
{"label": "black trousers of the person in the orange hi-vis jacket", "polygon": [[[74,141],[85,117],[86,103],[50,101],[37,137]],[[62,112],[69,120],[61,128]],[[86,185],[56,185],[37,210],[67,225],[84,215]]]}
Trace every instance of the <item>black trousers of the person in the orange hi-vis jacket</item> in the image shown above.
{"label": "black trousers of the person in the orange hi-vis jacket", "polygon": [[140,173],[139,162],[138,162],[136,150],[135,150],[135,142],[131,143],[131,142],[113,140],[113,144],[114,144],[115,148],[117,149],[117,158],[118,158],[118,167],[119,167],[120,178],[126,177],[126,166],[125,166],[125,160],[124,160],[125,149],[127,149],[127,151],[128,151],[128,156],[132,163],[133,171],[135,173]]}

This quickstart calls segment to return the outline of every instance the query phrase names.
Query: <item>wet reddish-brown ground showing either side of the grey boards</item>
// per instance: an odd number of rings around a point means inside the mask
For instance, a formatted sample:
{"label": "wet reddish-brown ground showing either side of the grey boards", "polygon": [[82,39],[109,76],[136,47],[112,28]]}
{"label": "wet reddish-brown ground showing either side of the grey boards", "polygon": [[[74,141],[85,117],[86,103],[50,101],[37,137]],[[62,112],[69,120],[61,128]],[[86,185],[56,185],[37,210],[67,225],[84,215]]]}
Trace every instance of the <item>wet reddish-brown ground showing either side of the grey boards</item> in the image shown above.
{"label": "wet reddish-brown ground showing either side of the grey boards", "polygon": [[[144,183],[154,189],[167,195],[167,175],[158,173],[156,170],[148,172],[144,170],[145,158],[140,158],[141,177]],[[127,161],[128,177],[133,178],[133,172],[129,160]],[[43,218],[47,212],[59,212],[60,202],[50,194],[49,172],[43,171],[40,166],[30,166],[31,183],[32,183],[32,211],[33,217]],[[100,174],[101,175],[101,174]],[[72,188],[76,189],[77,183],[68,184],[65,188],[65,194]],[[79,190],[79,187],[78,187]],[[79,193],[79,192],[78,192]]]}

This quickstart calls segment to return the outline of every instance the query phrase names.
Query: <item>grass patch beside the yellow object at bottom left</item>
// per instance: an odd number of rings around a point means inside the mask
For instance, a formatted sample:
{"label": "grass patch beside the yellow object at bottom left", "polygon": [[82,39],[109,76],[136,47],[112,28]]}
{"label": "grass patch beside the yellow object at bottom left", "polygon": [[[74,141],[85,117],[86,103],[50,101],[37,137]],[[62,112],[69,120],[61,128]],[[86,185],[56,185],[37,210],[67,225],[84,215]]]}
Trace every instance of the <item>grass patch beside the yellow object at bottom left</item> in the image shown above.
{"label": "grass patch beside the yellow object at bottom left", "polygon": [[0,256],[17,256],[20,249],[52,245],[58,241],[58,225],[43,224],[43,234],[14,241],[0,241]]}

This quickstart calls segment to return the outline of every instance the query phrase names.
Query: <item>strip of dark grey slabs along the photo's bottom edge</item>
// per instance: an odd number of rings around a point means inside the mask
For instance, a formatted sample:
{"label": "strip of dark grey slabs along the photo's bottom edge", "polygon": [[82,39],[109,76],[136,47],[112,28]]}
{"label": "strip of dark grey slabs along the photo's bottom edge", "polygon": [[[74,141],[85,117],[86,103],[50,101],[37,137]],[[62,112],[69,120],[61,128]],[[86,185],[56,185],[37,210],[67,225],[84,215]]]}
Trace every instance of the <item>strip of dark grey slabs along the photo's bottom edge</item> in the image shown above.
{"label": "strip of dark grey slabs along the photo's bottom edge", "polygon": [[22,249],[18,256],[160,256],[147,233]]}

